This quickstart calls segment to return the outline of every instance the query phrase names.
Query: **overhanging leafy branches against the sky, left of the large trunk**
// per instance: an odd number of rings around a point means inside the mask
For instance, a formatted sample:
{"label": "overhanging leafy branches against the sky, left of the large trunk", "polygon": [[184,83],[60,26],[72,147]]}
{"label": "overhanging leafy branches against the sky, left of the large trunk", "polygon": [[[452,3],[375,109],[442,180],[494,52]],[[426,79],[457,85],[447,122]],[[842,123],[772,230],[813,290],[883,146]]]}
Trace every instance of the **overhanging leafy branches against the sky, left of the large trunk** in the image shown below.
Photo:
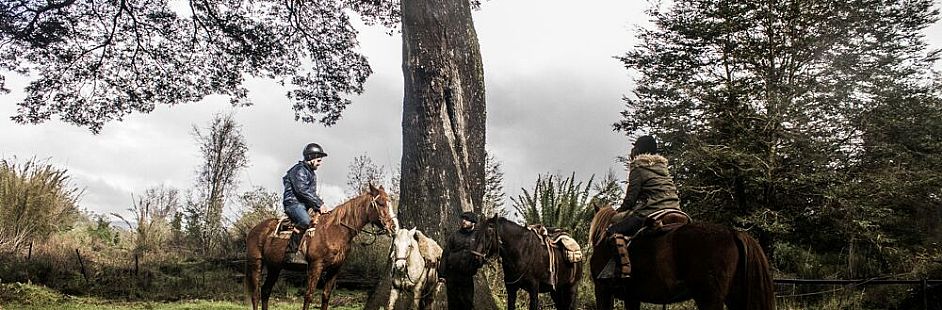
{"label": "overhanging leafy branches against the sky, left of the large trunk", "polygon": [[[295,118],[334,124],[371,69],[348,12],[393,25],[393,1],[43,1],[0,3],[0,69],[35,79],[20,123],[62,120],[99,132],[157,105],[227,95],[246,76],[288,84]],[[0,88],[4,76],[0,76]]]}

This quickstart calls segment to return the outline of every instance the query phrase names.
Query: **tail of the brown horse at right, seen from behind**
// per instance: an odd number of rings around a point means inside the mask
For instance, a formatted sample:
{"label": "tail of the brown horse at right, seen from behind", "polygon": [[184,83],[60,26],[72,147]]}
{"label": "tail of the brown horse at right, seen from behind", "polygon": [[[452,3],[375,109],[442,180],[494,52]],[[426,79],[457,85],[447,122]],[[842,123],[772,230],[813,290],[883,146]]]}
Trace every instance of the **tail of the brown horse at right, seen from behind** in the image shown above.
{"label": "tail of the brown horse at right, seen from behind", "polygon": [[755,238],[735,232],[739,246],[739,273],[737,277],[741,296],[741,309],[771,310],[775,308],[775,291],[769,261]]}

